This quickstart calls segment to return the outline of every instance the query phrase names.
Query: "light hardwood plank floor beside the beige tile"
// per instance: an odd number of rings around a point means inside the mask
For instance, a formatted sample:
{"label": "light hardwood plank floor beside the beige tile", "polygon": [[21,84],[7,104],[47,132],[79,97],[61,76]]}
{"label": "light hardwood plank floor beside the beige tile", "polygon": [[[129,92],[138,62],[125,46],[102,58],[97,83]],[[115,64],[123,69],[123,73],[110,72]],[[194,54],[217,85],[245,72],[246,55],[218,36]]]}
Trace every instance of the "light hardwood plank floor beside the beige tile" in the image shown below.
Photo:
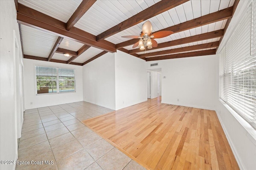
{"label": "light hardwood plank floor beside the beige tile", "polygon": [[239,169],[215,111],[160,100],[83,123],[148,169]]}

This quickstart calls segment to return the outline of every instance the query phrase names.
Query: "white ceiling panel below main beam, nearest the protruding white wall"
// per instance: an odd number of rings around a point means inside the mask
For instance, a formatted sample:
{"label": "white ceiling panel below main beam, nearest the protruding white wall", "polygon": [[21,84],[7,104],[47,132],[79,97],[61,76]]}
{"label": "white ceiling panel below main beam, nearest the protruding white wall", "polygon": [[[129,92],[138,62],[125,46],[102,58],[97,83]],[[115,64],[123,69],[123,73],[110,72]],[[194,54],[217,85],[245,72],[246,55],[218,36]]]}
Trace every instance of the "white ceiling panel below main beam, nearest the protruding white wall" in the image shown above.
{"label": "white ceiling panel below main beam, nearest the protruding white wall", "polygon": [[73,62],[75,63],[84,63],[85,61],[91,59],[92,57],[100,54],[103,50],[97,49],[94,47],[90,47],[88,50],[86,50],[84,53],[82,53],[79,57],[74,59]]}

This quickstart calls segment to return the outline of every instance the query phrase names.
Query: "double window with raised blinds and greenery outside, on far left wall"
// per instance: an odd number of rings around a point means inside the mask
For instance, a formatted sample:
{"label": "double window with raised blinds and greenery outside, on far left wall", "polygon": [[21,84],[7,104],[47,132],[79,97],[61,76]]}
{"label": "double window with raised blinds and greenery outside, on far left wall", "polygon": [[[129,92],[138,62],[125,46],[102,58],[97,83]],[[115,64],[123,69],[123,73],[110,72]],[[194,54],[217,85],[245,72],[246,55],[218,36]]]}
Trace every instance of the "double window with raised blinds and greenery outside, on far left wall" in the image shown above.
{"label": "double window with raised blinds and greenery outside, on far left wall", "polygon": [[36,94],[75,92],[75,70],[36,66]]}

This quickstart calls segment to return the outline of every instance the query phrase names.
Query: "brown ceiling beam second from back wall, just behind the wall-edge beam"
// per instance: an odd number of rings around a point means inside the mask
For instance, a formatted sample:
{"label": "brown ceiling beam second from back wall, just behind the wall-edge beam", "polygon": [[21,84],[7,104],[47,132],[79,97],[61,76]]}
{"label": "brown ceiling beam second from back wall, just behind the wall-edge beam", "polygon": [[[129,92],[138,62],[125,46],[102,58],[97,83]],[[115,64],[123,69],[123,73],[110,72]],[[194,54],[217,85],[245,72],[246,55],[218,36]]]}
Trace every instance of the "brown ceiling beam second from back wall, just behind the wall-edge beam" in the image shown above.
{"label": "brown ceiling beam second from back wall, just behind the wall-edge beam", "polygon": [[164,50],[164,51],[157,51],[154,53],[141,54],[141,55],[139,55],[139,58],[156,56],[156,55],[166,55],[166,54],[172,54],[172,53],[181,53],[181,52],[200,50],[200,49],[208,49],[208,48],[218,47],[218,46],[219,46],[219,41],[216,41],[213,43],[192,45],[192,46],[182,47],[182,48],[177,48],[177,49],[170,49],[170,50]]}

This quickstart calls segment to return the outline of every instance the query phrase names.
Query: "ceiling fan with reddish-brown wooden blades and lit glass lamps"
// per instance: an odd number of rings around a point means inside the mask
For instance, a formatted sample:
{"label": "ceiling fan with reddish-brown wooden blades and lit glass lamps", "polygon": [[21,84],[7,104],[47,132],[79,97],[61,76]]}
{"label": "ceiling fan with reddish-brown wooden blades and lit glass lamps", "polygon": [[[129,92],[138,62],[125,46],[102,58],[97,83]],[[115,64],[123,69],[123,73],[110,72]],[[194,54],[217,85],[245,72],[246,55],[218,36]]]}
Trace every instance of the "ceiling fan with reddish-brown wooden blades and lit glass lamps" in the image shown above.
{"label": "ceiling fan with reddish-brown wooden blades and lit glass lamps", "polygon": [[[123,38],[139,38],[140,40],[135,43],[132,48],[140,47],[141,50],[146,51],[146,47],[148,49],[152,49],[152,47],[157,47],[156,38],[167,37],[174,33],[173,31],[158,31],[152,34],[152,24],[150,21],[146,21],[142,26],[142,32],[140,32],[140,36],[136,35],[128,35],[122,36]],[[154,38],[154,39],[153,39]]]}

